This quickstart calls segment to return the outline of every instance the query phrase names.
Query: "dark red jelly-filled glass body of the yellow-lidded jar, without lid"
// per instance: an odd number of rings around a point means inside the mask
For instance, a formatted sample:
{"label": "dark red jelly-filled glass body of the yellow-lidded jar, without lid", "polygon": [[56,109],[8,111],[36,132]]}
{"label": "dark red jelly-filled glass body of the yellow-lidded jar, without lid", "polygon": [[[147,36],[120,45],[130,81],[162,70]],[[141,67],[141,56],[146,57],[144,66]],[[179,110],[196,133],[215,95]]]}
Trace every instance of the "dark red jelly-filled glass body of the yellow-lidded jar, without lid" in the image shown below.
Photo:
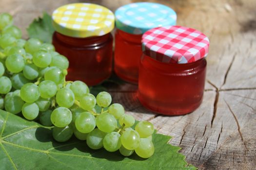
{"label": "dark red jelly-filled glass body of the yellow-lidded jar, without lid", "polygon": [[87,85],[97,85],[112,72],[112,34],[88,38],[53,35],[53,45],[69,60],[67,80],[80,80]]}

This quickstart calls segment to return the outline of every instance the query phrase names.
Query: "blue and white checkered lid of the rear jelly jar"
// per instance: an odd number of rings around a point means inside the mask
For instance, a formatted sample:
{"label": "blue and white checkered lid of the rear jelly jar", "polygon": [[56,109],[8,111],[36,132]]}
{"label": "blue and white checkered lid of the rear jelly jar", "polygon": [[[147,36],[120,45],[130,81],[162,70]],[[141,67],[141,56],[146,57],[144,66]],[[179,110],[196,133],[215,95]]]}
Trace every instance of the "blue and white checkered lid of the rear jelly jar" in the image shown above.
{"label": "blue and white checkered lid of the rear jelly jar", "polygon": [[121,6],[115,12],[116,26],[130,34],[143,34],[149,29],[176,25],[176,12],[165,5],[137,2]]}

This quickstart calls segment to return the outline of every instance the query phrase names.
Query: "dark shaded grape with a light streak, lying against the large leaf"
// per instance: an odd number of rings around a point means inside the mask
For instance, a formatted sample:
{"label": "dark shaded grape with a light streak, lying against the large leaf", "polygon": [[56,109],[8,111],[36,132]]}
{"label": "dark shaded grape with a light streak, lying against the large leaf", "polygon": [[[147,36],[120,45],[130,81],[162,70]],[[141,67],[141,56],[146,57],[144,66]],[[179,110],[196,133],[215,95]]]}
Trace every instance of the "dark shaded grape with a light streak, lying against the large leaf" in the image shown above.
{"label": "dark shaded grape with a light streak, lying against the large leaf", "polygon": [[73,129],[71,126],[65,127],[54,127],[53,128],[53,138],[58,142],[65,142],[69,140],[73,135]]}

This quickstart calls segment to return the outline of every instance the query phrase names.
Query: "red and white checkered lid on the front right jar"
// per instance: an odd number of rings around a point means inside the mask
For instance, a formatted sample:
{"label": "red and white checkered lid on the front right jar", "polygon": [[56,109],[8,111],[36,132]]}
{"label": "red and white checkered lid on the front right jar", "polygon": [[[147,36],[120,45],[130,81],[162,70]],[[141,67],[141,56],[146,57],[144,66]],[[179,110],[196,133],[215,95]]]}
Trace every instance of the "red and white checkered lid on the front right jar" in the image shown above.
{"label": "red and white checkered lid on the front right jar", "polygon": [[182,26],[153,28],[142,36],[144,54],[163,63],[192,63],[208,54],[205,34]]}

